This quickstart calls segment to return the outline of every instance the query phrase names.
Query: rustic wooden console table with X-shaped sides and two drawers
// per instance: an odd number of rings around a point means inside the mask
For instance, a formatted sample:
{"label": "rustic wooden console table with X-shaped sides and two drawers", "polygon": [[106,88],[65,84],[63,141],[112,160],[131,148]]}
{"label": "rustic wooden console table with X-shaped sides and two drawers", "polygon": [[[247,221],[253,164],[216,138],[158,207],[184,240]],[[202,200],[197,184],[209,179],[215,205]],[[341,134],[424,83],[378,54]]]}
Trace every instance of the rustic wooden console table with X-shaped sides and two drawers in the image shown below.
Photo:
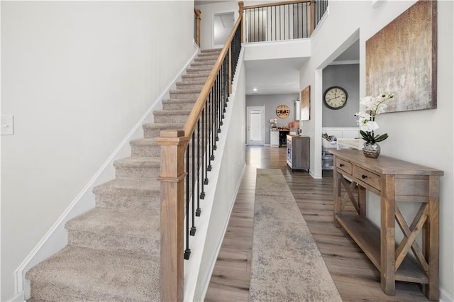
{"label": "rustic wooden console table with X-shaped sides and two drawers", "polygon": [[[329,152],[334,155],[334,224],[347,231],[380,271],[384,293],[394,295],[395,281],[408,281],[423,284],[427,298],[438,300],[438,181],[443,171],[382,155],[367,158],[359,150]],[[380,196],[380,228],[366,217],[366,190]],[[348,201],[356,215],[342,213]],[[397,201],[421,203],[410,224]],[[401,242],[395,240],[395,221],[404,234]],[[421,230],[422,249],[415,240]],[[416,258],[408,255],[410,249]]]}

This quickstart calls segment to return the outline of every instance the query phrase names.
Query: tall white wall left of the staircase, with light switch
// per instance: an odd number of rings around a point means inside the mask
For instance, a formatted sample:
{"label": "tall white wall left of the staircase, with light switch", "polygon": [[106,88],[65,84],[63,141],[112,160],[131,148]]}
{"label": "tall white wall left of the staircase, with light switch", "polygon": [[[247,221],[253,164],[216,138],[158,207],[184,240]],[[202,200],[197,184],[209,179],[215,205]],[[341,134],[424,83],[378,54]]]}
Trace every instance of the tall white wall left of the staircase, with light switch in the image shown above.
{"label": "tall white wall left of the staircase, with light switch", "polygon": [[[159,13],[157,13],[159,12]],[[1,3],[1,301],[193,53],[192,1]]]}

